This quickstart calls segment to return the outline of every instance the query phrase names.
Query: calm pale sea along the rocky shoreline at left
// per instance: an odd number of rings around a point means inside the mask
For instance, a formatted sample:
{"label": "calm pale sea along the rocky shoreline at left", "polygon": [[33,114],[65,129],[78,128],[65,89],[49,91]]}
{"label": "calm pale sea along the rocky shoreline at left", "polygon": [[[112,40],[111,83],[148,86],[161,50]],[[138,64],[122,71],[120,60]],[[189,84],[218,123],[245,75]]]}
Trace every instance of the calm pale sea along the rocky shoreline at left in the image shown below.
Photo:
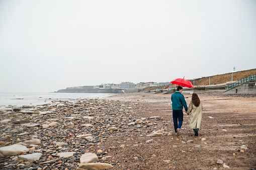
{"label": "calm pale sea along the rocky shoreline at left", "polygon": [[1,107],[34,106],[51,103],[52,101],[66,101],[79,99],[106,98],[113,94],[108,93],[0,93]]}

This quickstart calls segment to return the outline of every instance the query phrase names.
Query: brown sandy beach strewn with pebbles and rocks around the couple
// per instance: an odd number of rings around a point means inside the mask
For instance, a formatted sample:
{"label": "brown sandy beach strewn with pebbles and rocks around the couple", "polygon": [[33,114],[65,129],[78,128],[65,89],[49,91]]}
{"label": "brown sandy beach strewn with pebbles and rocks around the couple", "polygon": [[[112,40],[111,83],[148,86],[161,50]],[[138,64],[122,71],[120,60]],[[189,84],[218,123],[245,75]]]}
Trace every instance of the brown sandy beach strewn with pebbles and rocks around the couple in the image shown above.
{"label": "brown sandy beach strewn with pebbles and rocks around the couple", "polygon": [[[184,96],[189,104],[192,95]],[[170,94],[9,106],[0,112],[0,168],[255,169],[256,96],[199,97],[204,107],[199,136],[189,129],[184,110],[180,138]]]}

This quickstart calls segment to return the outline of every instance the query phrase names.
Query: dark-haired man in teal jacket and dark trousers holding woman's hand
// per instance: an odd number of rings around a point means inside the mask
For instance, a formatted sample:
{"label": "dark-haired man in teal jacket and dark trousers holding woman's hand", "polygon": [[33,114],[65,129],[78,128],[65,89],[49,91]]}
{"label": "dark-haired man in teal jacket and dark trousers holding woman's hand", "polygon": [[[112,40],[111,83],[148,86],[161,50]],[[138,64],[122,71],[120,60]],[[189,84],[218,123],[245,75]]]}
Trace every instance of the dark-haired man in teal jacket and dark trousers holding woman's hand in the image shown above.
{"label": "dark-haired man in teal jacket and dark trousers holding woman's hand", "polygon": [[180,136],[180,130],[183,122],[183,106],[185,108],[185,111],[188,111],[187,102],[184,98],[184,95],[182,94],[182,90],[183,88],[179,86],[177,88],[177,91],[174,94],[172,94],[172,97],[170,98],[172,100],[173,107],[174,129],[178,137]]}

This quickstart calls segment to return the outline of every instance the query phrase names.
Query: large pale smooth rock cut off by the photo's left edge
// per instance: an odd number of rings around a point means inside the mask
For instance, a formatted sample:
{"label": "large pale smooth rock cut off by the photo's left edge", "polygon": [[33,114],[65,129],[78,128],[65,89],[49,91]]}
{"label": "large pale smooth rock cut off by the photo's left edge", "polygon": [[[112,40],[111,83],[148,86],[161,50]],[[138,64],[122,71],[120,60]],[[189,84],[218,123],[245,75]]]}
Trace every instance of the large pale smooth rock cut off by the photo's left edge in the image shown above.
{"label": "large pale smooth rock cut off by the photo's left edge", "polygon": [[29,151],[29,149],[26,146],[20,144],[0,147],[0,157],[18,155],[26,151]]}

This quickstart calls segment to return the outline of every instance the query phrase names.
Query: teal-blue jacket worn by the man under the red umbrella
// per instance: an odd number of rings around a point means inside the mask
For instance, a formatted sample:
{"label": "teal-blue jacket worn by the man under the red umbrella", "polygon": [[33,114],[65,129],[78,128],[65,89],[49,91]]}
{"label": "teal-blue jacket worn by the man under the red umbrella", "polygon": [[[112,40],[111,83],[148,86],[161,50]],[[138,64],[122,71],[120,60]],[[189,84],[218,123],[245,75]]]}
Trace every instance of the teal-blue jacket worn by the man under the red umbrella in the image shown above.
{"label": "teal-blue jacket worn by the man under the red umbrella", "polygon": [[183,110],[183,106],[185,108],[185,111],[188,110],[187,102],[181,92],[175,92],[174,94],[172,94],[172,97],[170,99],[172,100],[173,110]]}

